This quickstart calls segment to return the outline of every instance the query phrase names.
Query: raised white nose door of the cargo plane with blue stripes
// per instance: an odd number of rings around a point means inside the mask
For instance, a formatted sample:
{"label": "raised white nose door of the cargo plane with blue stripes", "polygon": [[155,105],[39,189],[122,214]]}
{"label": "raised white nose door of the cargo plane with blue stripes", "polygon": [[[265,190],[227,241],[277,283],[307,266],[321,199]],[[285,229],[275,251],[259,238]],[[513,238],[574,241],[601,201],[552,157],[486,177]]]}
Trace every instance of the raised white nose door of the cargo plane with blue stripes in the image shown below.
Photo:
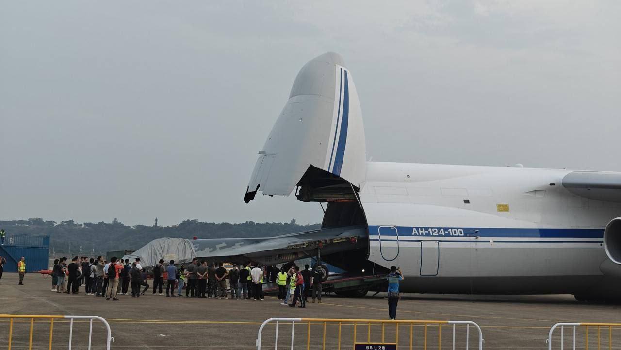
{"label": "raised white nose door of the cargo plane with blue stripes", "polygon": [[325,53],[297,74],[289,100],[259,152],[243,199],[250,202],[257,191],[288,196],[311,167],[360,188],[366,175],[365,153],[351,72],[340,55]]}

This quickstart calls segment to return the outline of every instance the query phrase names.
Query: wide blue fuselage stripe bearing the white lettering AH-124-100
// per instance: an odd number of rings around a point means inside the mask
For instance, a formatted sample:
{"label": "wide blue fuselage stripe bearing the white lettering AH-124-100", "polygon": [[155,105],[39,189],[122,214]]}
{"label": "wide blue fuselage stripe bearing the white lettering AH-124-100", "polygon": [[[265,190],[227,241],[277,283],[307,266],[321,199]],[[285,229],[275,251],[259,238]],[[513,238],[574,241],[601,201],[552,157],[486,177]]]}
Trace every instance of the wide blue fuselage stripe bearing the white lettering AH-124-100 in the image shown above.
{"label": "wide blue fuselage stripe bearing the white lettering AH-124-100", "polygon": [[[390,226],[383,225],[382,227]],[[378,234],[380,226],[369,226],[369,233]],[[532,237],[532,238],[603,238],[604,229],[584,229],[584,228],[460,228],[460,227],[430,227],[430,226],[396,226],[400,237]],[[425,230],[425,234],[412,234],[417,229],[420,233],[421,229]],[[429,229],[440,229],[445,231],[444,235],[432,235],[428,233]],[[464,236],[451,236],[447,229],[463,229]],[[382,232],[381,236],[396,236],[397,233],[392,230]]]}

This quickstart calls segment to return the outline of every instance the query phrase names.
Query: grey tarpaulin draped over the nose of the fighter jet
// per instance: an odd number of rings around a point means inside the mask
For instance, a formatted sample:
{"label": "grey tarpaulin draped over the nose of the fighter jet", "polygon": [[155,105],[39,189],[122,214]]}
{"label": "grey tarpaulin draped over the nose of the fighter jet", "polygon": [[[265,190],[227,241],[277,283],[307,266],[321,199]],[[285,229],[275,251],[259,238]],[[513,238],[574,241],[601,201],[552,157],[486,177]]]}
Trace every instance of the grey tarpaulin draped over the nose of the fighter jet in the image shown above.
{"label": "grey tarpaulin draped over the nose of the fighter jet", "polygon": [[160,259],[164,259],[166,262],[175,260],[175,264],[184,264],[192,261],[196,257],[196,253],[189,239],[158,238],[148,242],[146,246],[134,253],[124,256],[123,259],[129,259],[133,262],[137,257],[140,258],[141,265],[146,267],[154,266]]}

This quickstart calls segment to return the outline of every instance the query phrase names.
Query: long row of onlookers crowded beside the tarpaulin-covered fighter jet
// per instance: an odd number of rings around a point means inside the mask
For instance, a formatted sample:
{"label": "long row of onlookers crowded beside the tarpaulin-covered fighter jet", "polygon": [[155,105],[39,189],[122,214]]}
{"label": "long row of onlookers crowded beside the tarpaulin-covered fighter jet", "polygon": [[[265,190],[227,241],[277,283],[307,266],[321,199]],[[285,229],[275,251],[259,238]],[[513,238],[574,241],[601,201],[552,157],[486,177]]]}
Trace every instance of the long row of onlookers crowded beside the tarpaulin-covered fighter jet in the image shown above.
{"label": "long row of onlookers crowded beside the tarpaulin-covered fighter jet", "polygon": [[[324,270],[311,271],[309,265],[301,270],[294,262],[284,264],[276,273],[274,266],[263,266],[247,262],[243,265],[234,264],[226,269],[219,262],[208,264],[207,261],[193,259],[189,264],[177,267],[175,260],[165,262],[160,259],[153,266],[151,274],[140,264],[140,258],[134,262],[129,259],[112,257],[110,261],[102,256],[96,259],[89,257],[67,257],[55,259],[52,269],[52,292],[79,294],[84,287],[85,295],[105,297],[106,300],[118,301],[117,295],[145,295],[152,288],[152,295],[166,297],[219,298],[236,300],[264,301],[263,284],[276,282],[278,299],[282,305],[306,307],[306,301],[312,296],[321,303]],[[152,275],[152,285],[148,279]],[[164,288],[166,280],[166,288]],[[228,282],[228,285],[227,285]],[[141,290],[142,288],[142,290]],[[185,289],[185,293],[183,293]]]}

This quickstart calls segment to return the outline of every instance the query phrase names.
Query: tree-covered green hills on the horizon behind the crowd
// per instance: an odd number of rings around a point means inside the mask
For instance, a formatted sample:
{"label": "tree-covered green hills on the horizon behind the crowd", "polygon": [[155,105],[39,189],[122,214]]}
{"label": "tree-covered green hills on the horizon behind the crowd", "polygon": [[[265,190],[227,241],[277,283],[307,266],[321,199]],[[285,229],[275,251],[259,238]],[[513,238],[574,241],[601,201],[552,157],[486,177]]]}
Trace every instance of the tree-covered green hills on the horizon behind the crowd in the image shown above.
{"label": "tree-covered green hills on the horizon behind the crowd", "polygon": [[96,252],[138,249],[153,239],[160,237],[179,238],[235,238],[235,237],[271,237],[280,234],[296,233],[320,228],[320,224],[298,225],[292,219],[290,223],[254,223],[241,224],[202,223],[198,220],[185,220],[173,226],[127,226],[114,219],[112,223],[83,223],[73,220],[44,221],[40,218],[14,221],[0,221],[0,228],[7,234],[34,234],[50,236],[50,248],[57,252],[75,251],[83,246],[84,252],[94,249]]}

